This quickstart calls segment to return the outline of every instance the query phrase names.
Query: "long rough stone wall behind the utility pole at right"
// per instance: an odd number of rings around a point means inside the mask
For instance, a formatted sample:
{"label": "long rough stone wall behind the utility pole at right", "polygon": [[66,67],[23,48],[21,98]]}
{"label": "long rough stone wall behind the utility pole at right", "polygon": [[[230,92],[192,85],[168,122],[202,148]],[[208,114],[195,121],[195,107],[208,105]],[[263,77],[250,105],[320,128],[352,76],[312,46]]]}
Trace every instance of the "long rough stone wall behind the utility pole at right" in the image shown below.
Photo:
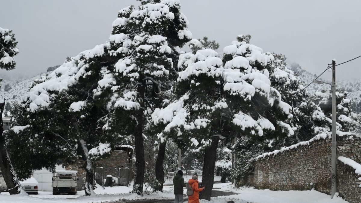
{"label": "long rough stone wall behind the utility pole at right", "polygon": [[[351,138],[351,139],[350,139]],[[361,163],[361,139],[338,137],[338,156]],[[270,190],[310,190],[331,193],[331,140],[318,136],[282,150],[266,153],[253,161],[254,171],[240,185]],[[351,203],[360,203],[360,174],[337,162],[338,192]],[[358,199],[358,200],[357,200]]]}

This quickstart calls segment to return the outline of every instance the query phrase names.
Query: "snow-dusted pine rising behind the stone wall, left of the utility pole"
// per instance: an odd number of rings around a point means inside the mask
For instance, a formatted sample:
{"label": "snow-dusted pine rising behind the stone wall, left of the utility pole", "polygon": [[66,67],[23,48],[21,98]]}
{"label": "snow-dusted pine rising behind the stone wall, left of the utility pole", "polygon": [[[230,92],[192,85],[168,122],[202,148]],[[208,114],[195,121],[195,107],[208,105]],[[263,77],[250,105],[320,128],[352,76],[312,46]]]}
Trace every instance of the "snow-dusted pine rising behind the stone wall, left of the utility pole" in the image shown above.
{"label": "snow-dusted pine rising behind the stone wall, left of the utility pole", "polygon": [[[273,85],[282,95],[282,100],[292,106],[293,117],[290,125],[294,128],[294,135],[282,140],[272,139],[270,146],[290,146],[300,141],[308,141],[316,134],[327,132],[329,122],[326,117],[322,117],[322,112],[314,103],[313,95],[308,91],[301,91],[303,85],[301,79],[286,66],[286,57],[273,53],[274,72],[270,75],[271,85]],[[301,91],[301,92],[300,92]],[[320,115],[321,113],[321,115]],[[320,115],[320,116],[315,116]]]}

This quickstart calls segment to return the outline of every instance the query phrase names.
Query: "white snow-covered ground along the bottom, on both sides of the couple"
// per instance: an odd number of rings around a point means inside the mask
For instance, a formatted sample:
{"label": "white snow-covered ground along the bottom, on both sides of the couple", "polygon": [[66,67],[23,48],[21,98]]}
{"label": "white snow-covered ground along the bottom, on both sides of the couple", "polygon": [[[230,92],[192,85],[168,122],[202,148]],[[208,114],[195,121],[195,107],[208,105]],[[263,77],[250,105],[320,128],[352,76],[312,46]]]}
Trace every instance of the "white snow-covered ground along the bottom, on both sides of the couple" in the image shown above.
{"label": "white snow-covered ground along the bottom, on both sides of the couple", "polygon": [[[230,196],[213,197],[211,201],[201,200],[201,203],[219,203],[233,200],[236,203],[348,203],[340,197],[331,200],[331,196],[311,191],[271,191],[257,190],[252,187],[234,188],[230,183],[216,183],[214,188],[219,190],[239,193]],[[163,193],[152,193],[151,195],[139,196],[131,194],[131,187],[106,187],[105,189],[96,189],[97,196],[84,196],[84,191],[78,191],[77,195],[52,195],[51,192],[39,191],[39,195],[9,195],[1,193],[1,203],[97,203],[113,200],[134,200],[134,199],[173,199],[173,187],[165,186]],[[185,191],[184,191],[185,192]]]}

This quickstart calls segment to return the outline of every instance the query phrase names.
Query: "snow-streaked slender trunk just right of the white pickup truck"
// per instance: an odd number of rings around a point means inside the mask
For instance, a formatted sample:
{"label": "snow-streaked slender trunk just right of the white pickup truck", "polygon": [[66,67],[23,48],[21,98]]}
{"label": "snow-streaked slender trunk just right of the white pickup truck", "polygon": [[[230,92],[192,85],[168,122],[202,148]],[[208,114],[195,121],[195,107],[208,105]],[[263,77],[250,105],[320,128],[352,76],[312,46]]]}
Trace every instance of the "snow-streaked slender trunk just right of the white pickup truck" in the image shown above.
{"label": "snow-streaked slender trunk just right of the white pickup truck", "polygon": [[93,178],[94,178],[94,173],[93,173],[93,168],[94,168],[94,164],[93,161],[91,161],[88,158],[88,148],[86,146],[86,142],[83,139],[79,139],[79,144],[82,147],[81,151],[83,152],[83,161],[84,161],[84,166],[83,168],[86,170],[86,178],[85,178],[85,195],[86,196],[95,196],[95,192],[93,191]]}

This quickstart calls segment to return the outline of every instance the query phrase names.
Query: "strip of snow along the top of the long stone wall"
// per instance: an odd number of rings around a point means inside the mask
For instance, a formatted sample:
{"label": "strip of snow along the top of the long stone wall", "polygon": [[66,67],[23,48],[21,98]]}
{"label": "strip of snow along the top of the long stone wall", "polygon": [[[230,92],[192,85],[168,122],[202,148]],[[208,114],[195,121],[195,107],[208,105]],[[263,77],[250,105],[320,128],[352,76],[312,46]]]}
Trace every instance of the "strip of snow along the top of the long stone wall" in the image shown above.
{"label": "strip of snow along the top of the long stone wall", "polygon": [[[353,135],[353,134],[354,134],[354,133],[351,133],[351,132],[342,132],[342,131],[339,131],[339,130],[337,130],[336,133],[337,133],[337,135],[340,136],[340,137],[342,137],[342,136],[344,136],[344,135]],[[275,155],[277,155],[277,154],[280,153],[280,152],[292,150],[292,149],[295,149],[295,148],[297,148],[297,147],[299,147],[299,146],[302,146],[302,145],[309,145],[311,142],[314,142],[314,141],[319,140],[319,139],[326,139],[326,138],[331,139],[331,134],[332,134],[331,132],[321,133],[321,134],[316,135],[315,137],[311,138],[311,139],[308,140],[308,141],[299,142],[299,143],[293,144],[293,145],[291,145],[291,146],[289,146],[289,147],[282,147],[280,150],[275,150],[275,151],[273,151],[273,152],[266,152],[266,153],[264,153],[264,154],[261,154],[261,155],[257,156],[257,157],[256,157],[256,160],[257,160],[257,159],[260,159],[260,158],[265,158],[265,157],[271,156],[271,155],[275,156]]]}

